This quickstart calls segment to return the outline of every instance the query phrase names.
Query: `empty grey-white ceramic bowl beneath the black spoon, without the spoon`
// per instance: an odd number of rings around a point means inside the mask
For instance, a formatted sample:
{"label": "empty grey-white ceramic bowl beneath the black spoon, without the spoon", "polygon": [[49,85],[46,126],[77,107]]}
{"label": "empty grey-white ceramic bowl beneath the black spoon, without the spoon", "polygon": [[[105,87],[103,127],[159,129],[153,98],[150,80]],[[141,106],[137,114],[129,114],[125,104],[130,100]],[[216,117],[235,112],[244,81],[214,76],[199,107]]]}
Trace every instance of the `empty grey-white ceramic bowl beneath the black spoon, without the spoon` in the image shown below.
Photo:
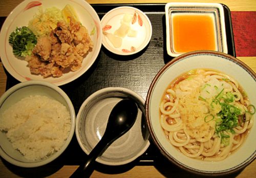
{"label": "empty grey-white ceramic bowl beneath the black spoon, without the spoon", "polygon": [[136,101],[139,107],[138,116],[133,127],[96,159],[101,164],[130,163],[143,154],[150,145],[142,97],[126,88],[108,87],[89,96],[79,109],[75,132],[80,147],[86,154],[92,151],[103,136],[112,108],[123,98]]}

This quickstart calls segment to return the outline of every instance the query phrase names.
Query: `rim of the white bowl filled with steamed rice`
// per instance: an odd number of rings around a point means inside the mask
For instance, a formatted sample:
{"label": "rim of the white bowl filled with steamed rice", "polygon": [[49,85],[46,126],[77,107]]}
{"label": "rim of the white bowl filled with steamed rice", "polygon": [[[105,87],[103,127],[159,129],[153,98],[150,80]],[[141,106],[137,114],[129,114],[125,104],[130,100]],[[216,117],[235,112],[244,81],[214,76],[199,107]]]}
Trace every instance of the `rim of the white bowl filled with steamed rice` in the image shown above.
{"label": "rim of the white bowl filled with steamed rice", "polygon": [[30,81],[18,83],[16,85],[12,86],[11,88],[9,88],[9,90],[7,90],[0,97],[0,107],[2,106],[2,104],[6,101],[6,99],[10,95],[12,95],[16,91],[18,91],[20,88],[29,87],[32,85],[39,85],[39,86],[41,85],[41,86],[49,87],[52,90],[56,91],[60,96],[63,97],[63,99],[67,102],[67,105],[68,105],[67,109],[69,110],[70,117],[71,117],[71,128],[70,128],[68,138],[65,141],[65,143],[62,145],[62,147],[57,152],[52,154],[51,157],[48,157],[47,159],[44,159],[44,160],[38,160],[37,162],[33,162],[33,163],[20,162],[16,159],[10,157],[0,146],[0,155],[2,158],[4,158],[6,161],[8,161],[9,163],[11,163],[13,165],[16,165],[19,167],[25,167],[25,168],[43,166],[43,165],[46,165],[46,164],[52,162],[53,160],[57,159],[60,156],[60,154],[62,154],[62,152],[64,152],[66,150],[66,148],[68,147],[68,145],[70,144],[70,142],[73,138],[73,135],[74,135],[74,131],[75,131],[75,109],[74,109],[74,106],[73,106],[70,98],[60,87],[58,87],[50,82],[39,81],[39,80],[30,80]]}

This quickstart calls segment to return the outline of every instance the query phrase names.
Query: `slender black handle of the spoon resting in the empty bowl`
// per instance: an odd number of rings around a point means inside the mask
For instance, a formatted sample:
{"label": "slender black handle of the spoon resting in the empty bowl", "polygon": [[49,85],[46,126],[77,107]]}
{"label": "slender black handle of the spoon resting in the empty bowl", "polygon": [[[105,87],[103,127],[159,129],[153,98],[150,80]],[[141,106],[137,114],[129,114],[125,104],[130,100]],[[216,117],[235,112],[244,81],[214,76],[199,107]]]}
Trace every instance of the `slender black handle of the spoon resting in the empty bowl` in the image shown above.
{"label": "slender black handle of the spoon resting in the empty bowl", "polygon": [[110,145],[108,139],[104,139],[104,135],[93,150],[88,155],[87,161],[80,165],[71,177],[90,177],[94,171],[95,160],[99,157],[102,152]]}

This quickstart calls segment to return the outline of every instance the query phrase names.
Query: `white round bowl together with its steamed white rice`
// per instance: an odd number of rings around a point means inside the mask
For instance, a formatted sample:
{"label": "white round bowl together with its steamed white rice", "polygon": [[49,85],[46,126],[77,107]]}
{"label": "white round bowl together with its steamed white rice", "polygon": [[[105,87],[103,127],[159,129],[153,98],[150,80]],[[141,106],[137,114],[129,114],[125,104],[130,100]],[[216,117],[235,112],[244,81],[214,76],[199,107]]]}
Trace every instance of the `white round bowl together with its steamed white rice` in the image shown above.
{"label": "white round bowl together with its steamed white rice", "polygon": [[44,81],[26,81],[0,98],[0,155],[20,167],[50,163],[68,147],[75,110],[67,94]]}

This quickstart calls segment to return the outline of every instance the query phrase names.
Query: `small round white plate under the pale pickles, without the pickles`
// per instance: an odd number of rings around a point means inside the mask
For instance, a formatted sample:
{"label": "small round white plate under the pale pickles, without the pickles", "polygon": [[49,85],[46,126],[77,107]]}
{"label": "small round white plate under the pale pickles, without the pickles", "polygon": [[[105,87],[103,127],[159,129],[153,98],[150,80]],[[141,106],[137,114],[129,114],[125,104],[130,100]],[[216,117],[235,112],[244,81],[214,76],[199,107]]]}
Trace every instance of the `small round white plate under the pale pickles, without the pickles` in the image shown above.
{"label": "small round white plate under the pale pickles, without the pickles", "polygon": [[[137,31],[136,37],[128,37],[126,35],[122,38],[121,47],[115,48],[110,40],[103,35],[102,44],[112,53],[118,55],[132,55],[143,50],[147,46],[148,42],[150,42],[152,36],[151,21],[144,12],[134,7],[122,6],[112,9],[102,17],[101,27],[104,28],[106,25],[110,25],[111,29],[106,30],[105,32],[114,34],[114,32],[120,27],[123,16],[125,14],[133,15],[134,13],[137,15],[137,20],[135,24],[131,25],[131,28]],[[142,26],[138,23],[138,16],[142,19]],[[135,47],[135,51],[131,51],[131,47]]]}

